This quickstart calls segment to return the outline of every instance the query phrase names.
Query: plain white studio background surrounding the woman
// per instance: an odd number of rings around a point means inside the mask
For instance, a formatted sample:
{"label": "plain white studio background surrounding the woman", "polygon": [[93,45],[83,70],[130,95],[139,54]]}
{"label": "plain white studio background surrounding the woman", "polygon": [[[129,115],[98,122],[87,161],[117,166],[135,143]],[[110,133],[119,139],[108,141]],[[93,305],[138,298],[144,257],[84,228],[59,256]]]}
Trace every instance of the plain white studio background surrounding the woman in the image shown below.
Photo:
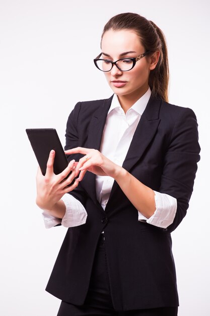
{"label": "plain white studio background surrounding the woman", "polygon": [[37,162],[26,128],[54,127],[64,145],[77,101],[112,94],[94,64],[104,24],[135,12],[165,33],[171,103],[193,109],[201,161],[188,214],[172,234],[179,316],[209,315],[209,3],[200,1],[0,1],[1,269],[4,316],[54,316],[45,292],[66,229],[46,230],[35,204]]}

